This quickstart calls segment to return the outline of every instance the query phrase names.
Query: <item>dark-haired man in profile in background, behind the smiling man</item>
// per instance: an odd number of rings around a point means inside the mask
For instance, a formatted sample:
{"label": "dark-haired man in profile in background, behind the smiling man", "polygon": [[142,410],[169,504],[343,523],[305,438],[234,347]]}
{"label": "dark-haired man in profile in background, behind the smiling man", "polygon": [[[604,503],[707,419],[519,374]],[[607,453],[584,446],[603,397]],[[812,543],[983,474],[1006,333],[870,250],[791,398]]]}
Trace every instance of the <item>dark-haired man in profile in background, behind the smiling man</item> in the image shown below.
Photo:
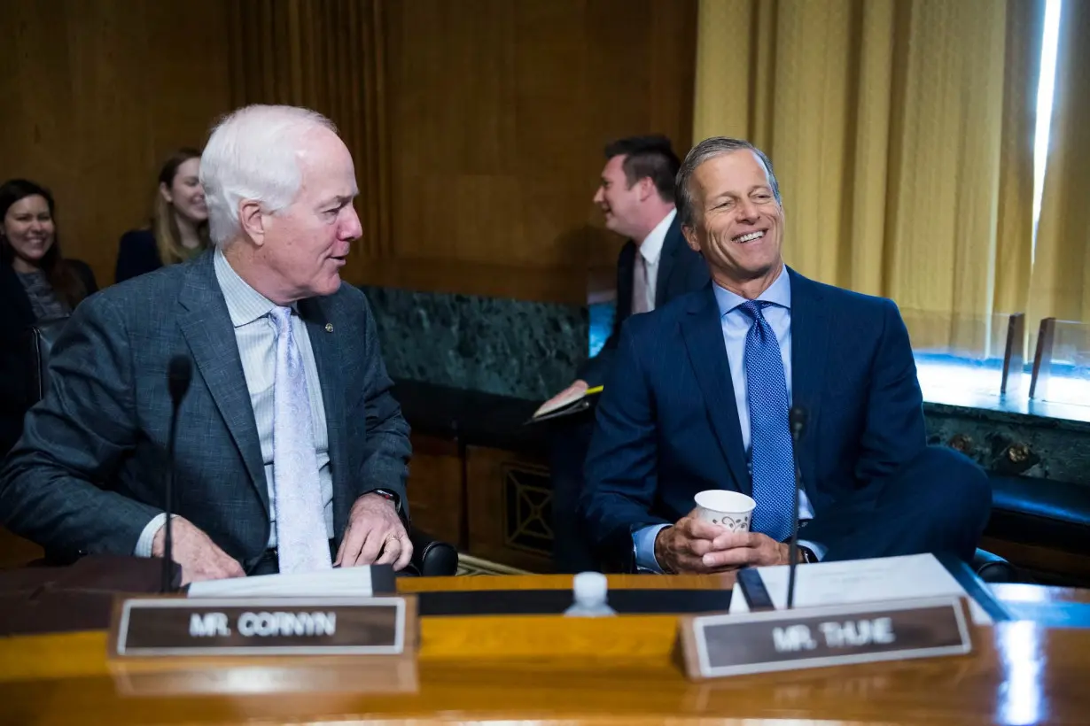
{"label": "dark-haired man in profile in background, behind the smiling man", "polygon": [[[630,316],[654,310],[708,281],[707,266],[681,235],[674,196],[679,161],[669,139],[622,138],[606,146],[605,156],[594,204],[605,216],[606,229],[628,239],[617,258],[613,332],[602,350],[579,369],[577,380],[550,401],[578,396],[605,382],[621,323]],[[556,426],[550,457],[554,561],[559,571],[594,569],[576,517],[593,421],[584,417]]]}

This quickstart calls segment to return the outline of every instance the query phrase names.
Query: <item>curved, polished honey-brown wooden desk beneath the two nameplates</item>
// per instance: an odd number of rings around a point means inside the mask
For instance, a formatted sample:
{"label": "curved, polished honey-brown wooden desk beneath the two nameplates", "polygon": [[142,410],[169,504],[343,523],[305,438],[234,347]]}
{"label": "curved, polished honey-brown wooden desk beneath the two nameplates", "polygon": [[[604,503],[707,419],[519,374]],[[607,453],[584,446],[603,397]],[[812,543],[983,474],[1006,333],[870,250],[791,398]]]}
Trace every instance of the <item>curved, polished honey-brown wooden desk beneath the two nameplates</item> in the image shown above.
{"label": "curved, polished honey-brown wooden desk beneath the two nameplates", "polygon": [[[570,587],[570,578],[443,578],[401,585],[405,592],[544,589]],[[729,578],[610,580],[614,589],[725,586]],[[1003,588],[997,593],[1005,596]],[[1085,591],[1041,588],[1009,594],[1090,602]],[[977,652],[965,657],[693,684],[671,662],[671,616],[578,622],[511,616],[505,630],[519,627],[523,642],[552,643],[561,653],[534,660],[502,655],[517,653],[519,643],[487,640],[489,622],[494,627],[498,619],[424,618],[416,684],[407,693],[125,697],[108,669],[104,632],[12,638],[0,641],[0,723],[1085,724],[1090,714],[1090,630],[1004,624],[978,629]],[[566,649],[588,644],[598,651],[594,659],[562,656]],[[246,677],[261,678],[261,668],[252,668]],[[328,682],[330,676],[315,666],[310,677]]]}

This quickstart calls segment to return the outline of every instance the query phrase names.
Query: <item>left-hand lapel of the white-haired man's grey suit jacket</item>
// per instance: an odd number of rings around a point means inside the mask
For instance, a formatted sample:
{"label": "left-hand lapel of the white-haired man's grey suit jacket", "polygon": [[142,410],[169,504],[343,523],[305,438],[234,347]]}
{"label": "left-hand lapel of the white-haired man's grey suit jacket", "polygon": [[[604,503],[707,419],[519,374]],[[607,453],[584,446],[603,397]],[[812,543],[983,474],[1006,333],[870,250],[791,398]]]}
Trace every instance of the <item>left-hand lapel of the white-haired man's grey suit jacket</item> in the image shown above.
{"label": "left-hand lapel of the white-haired man's grey suit jacket", "polygon": [[191,266],[185,286],[178,297],[183,308],[179,325],[201,378],[208,386],[234,445],[242,453],[250,481],[268,514],[268,484],[257,423],[254,421],[234,327],[223,293],[216,282],[213,260],[213,254],[207,253]]}

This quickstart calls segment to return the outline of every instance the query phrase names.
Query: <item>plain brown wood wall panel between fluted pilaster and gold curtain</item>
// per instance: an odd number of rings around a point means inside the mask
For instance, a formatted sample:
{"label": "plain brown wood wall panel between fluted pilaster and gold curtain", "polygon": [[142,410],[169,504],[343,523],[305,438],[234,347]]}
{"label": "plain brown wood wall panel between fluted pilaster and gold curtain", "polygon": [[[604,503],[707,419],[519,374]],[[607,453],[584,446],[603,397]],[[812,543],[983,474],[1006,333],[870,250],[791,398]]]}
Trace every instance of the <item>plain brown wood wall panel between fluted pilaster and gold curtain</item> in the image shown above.
{"label": "plain brown wood wall panel between fluted pilaster and gold curtain", "polygon": [[375,282],[449,269],[455,292],[585,300],[588,267],[619,245],[591,204],[603,145],[688,148],[694,4],[388,3],[393,274],[372,266]]}

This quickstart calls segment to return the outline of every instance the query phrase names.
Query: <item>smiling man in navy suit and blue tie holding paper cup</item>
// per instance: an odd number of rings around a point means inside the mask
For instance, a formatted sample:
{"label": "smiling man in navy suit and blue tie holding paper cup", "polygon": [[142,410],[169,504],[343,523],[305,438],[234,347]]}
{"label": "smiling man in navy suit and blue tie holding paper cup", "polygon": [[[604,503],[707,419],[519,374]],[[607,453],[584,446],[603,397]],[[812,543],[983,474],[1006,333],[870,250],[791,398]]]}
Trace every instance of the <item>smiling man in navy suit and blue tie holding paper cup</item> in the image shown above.
{"label": "smiling man in navy suit and blue tie holding paper cup", "polygon": [[[610,567],[708,573],[786,564],[794,460],[803,562],[920,552],[972,556],[991,492],[976,464],[925,443],[897,307],[808,280],[783,261],[767,157],[710,138],[678,173],[689,246],[713,284],[629,320],[597,407],[580,509]],[[758,502],[750,532],[699,520],[693,496]]]}

